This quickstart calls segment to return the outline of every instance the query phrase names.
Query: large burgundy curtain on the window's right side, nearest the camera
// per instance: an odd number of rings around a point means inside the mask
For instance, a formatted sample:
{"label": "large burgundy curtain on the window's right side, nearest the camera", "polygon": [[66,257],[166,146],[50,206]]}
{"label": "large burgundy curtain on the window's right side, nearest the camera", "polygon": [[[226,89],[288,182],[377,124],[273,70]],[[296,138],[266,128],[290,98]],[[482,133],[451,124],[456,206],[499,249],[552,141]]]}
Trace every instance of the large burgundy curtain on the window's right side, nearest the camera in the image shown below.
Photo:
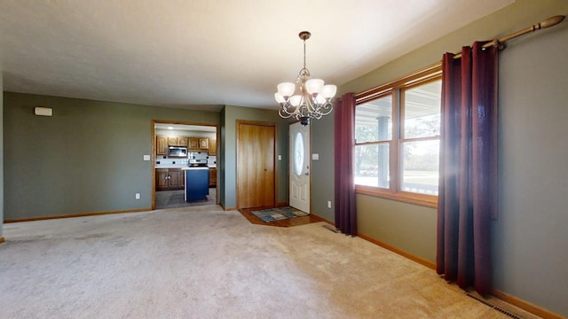
{"label": "large burgundy curtain on the window's right side, nearest the camera", "polygon": [[483,44],[442,60],[437,271],[461,288],[486,294],[492,290],[499,50]]}

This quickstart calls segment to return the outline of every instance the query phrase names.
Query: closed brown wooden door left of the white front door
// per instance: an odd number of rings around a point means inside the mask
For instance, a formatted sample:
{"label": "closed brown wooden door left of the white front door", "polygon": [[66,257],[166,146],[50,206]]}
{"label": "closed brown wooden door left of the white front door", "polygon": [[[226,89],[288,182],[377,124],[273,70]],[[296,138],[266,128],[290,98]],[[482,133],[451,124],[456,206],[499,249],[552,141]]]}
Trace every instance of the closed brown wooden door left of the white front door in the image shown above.
{"label": "closed brown wooden door left of the white front door", "polygon": [[276,124],[239,121],[237,125],[237,207],[273,207]]}

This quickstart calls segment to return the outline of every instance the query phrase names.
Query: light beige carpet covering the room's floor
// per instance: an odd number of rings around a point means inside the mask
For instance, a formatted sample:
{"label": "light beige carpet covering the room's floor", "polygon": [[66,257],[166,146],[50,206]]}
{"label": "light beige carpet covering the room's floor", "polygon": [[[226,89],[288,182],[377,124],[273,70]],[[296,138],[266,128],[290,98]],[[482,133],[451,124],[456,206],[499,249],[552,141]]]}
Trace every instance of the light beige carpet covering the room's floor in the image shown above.
{"label": "light beige carpet covering the room's floor", "polygon": [[4,224],[2,318],[507,318],[315,223],[198,206]]}

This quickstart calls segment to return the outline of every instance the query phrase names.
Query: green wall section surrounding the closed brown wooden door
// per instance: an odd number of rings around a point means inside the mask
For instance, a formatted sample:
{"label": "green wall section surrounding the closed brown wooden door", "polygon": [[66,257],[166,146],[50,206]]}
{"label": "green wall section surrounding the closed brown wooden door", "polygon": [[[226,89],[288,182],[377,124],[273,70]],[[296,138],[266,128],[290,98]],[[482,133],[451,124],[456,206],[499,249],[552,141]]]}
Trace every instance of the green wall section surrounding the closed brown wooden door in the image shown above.
{"label": "green wall section surrounding the closed brown wooden door", "polygon": [[[237,121],[269,121],[277,123],[276,153],[282,155],[282,160],[276,160],[277,179],[277,203],[288,203],[288,121],[280,118],[276,110],[256,109],[225,105],[221,112],[223,125],[221,128],[221,148],[224,154],[224,164],[219,173],[223,175],[221,187],[225,197],[221,204],[225,209],[233,209],[237,206]],[[223,138],[225,136],[225,138]],[[254,154],[248,154],[254,156]]]}

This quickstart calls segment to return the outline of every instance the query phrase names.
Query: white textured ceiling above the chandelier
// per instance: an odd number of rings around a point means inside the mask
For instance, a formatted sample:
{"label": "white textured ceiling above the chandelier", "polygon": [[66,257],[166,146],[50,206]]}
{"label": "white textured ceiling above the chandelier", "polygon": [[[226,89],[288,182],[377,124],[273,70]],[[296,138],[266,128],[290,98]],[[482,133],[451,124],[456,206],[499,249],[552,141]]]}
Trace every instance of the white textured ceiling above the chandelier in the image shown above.
{"label": "white textured ceiling above the chandelier", "polygon": [[302,30],[312,76],[341,85],[513,1],[2,0],[4,90],[276,108]]}

